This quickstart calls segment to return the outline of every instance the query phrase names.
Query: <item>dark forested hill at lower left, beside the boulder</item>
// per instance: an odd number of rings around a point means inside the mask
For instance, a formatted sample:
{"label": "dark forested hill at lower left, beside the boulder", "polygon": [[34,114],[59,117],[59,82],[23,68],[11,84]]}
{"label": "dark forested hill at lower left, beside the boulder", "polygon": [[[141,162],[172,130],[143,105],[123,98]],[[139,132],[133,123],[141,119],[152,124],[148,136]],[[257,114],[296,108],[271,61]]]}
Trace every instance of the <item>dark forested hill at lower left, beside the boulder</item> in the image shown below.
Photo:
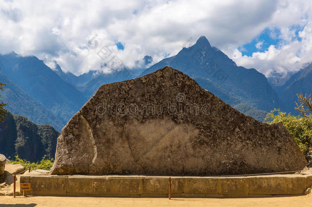
{"label": "dark forested hill at lower left, beside the boulder", "polygon": [[59,135],[50,125],[37,125],[8,112],[5,122],[0,122],[0,153],[10,159],[19,155],[30,162],[41,160],[43,155],[54,158]]}

